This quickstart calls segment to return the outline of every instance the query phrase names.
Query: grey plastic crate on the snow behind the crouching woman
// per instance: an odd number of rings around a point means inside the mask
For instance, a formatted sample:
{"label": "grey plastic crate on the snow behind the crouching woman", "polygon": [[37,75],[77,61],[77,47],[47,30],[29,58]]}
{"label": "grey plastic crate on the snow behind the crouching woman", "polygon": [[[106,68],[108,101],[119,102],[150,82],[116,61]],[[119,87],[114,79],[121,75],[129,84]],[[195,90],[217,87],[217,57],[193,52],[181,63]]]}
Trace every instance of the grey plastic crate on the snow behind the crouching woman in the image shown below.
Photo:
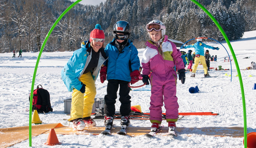
{"label": "grey plastic crate on the snow behind the crouching woman", "polygon": [[[64,112],[70,114],[71,109],[71,98],[64,100]],[[92,113],[95,113],[97,109],[104,108],[105,100],[104,98],[94,98],[94,104],[92,106]]]}

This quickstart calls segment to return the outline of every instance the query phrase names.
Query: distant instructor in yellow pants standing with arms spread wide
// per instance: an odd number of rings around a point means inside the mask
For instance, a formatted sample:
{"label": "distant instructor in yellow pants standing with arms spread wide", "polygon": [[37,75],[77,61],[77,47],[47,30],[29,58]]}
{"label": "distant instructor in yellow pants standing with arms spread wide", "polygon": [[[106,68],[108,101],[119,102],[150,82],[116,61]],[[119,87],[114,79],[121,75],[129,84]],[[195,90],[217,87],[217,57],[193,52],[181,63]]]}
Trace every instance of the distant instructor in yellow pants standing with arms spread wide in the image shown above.
{"label": "distant instructor in yellow pants standing with arms spread wide", "polygon": [[199,61],[201,60],[202,62],[202,65],[204,67],[204,76],[205,77],[210,77],[210,75],[208,74],[208,70],[207,70],[207,66],[206,66],[206,62],[205,62],[205,57],[204,57],[204,48],[209,48],[209,49],[216,49],[216,50],[219,50],[218,47],[212,47],[212,46],[208,46],[206,44],[204,44],[202,42],[202,38],[198,37],[197,39],[197,42],[195,44],[192,44],[192,45],[188,45],[188,46],[185,46],[183,48],[195,48],[195,65],[193,66],[193,73],[190,77],[195,77],[195,72],[196,72],[196,69],[197,69],[197,66],[199,64]]}

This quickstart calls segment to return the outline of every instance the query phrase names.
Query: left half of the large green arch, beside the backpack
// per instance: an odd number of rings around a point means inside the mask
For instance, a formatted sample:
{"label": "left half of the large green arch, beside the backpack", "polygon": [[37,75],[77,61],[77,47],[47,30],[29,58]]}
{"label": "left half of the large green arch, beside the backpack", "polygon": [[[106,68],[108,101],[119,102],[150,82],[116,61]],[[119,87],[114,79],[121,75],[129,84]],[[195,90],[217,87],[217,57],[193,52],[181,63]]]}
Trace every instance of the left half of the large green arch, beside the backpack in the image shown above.
{"label": "left half of the large green arch, beside the backpack", "polygon": [[[36,79],[36,72],[37,72],[37,67],[38,67],[38,63],[41,57],[41,54],[43,52],[43,48],[49,38],[49,36],[51,35],[53,29],[55,28],[55,26],[57,25],[57,23],[61,20],[61,18],[72,8],[74,7],[77,3],[79,3],[82,0],[77,0],[76,2],[74,2],[72,5],[70,5],[60,16],[59,18],[54,22],[54,24],[52,25],[50,31],[48,32],[46,38],[43,41],[43,45],[40,49],[39,55],[37,57],[37,62],[36,62],[36,66],[35,66],[35,70],[34,70],[34,75],[33,75],[33,80],[32,80],[32,84],[31,84],[31,92],[30,92],[30,98],[33,98],[33,92],[34,92],[34,85],[35,85],[35,79]],[[32,146],[32,101],[33,99],[30,99],[30,104],[29,104],[29,146]]]}

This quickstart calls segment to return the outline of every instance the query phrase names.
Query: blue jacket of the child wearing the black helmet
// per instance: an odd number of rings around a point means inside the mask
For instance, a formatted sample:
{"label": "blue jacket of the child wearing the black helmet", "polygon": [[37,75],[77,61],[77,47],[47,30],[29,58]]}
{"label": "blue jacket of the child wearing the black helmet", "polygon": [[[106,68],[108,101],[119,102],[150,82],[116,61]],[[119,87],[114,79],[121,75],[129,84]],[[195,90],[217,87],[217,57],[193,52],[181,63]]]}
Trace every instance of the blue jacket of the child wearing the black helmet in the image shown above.
{"label": "blue jacket of the child wearing the black helmet", "polygon": [[115,42],[114,38],[105,48],[108,57],[105,63],[107,65],[107,80],[115,79],[130,82],[130,72],[139,70],[140,67],[138,50],[128,39],[127,45],[119,53]]}

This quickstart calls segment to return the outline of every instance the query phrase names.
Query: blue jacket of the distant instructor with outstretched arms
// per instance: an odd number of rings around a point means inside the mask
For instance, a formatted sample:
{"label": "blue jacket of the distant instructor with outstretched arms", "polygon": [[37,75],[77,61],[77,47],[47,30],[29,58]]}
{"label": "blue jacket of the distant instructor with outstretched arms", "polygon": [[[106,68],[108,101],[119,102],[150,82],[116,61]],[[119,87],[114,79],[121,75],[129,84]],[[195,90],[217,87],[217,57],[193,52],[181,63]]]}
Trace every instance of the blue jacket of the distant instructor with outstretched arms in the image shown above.
{"label": "blue jacket of the distant instructor with outstretched arms", "polygon": [[196,42],[195,44],[192,44],[192,45],[185,46],[184,48],[186,49],[186,48],[192,48],[192,47],[195,48],[195,54],[200,54],[200,55],[203,55],[203,56],[204,56],[204,48],[219,50],[219,48],[208,46],[208,45],[204,44],[201,41],[198,41],[198,42]]}

